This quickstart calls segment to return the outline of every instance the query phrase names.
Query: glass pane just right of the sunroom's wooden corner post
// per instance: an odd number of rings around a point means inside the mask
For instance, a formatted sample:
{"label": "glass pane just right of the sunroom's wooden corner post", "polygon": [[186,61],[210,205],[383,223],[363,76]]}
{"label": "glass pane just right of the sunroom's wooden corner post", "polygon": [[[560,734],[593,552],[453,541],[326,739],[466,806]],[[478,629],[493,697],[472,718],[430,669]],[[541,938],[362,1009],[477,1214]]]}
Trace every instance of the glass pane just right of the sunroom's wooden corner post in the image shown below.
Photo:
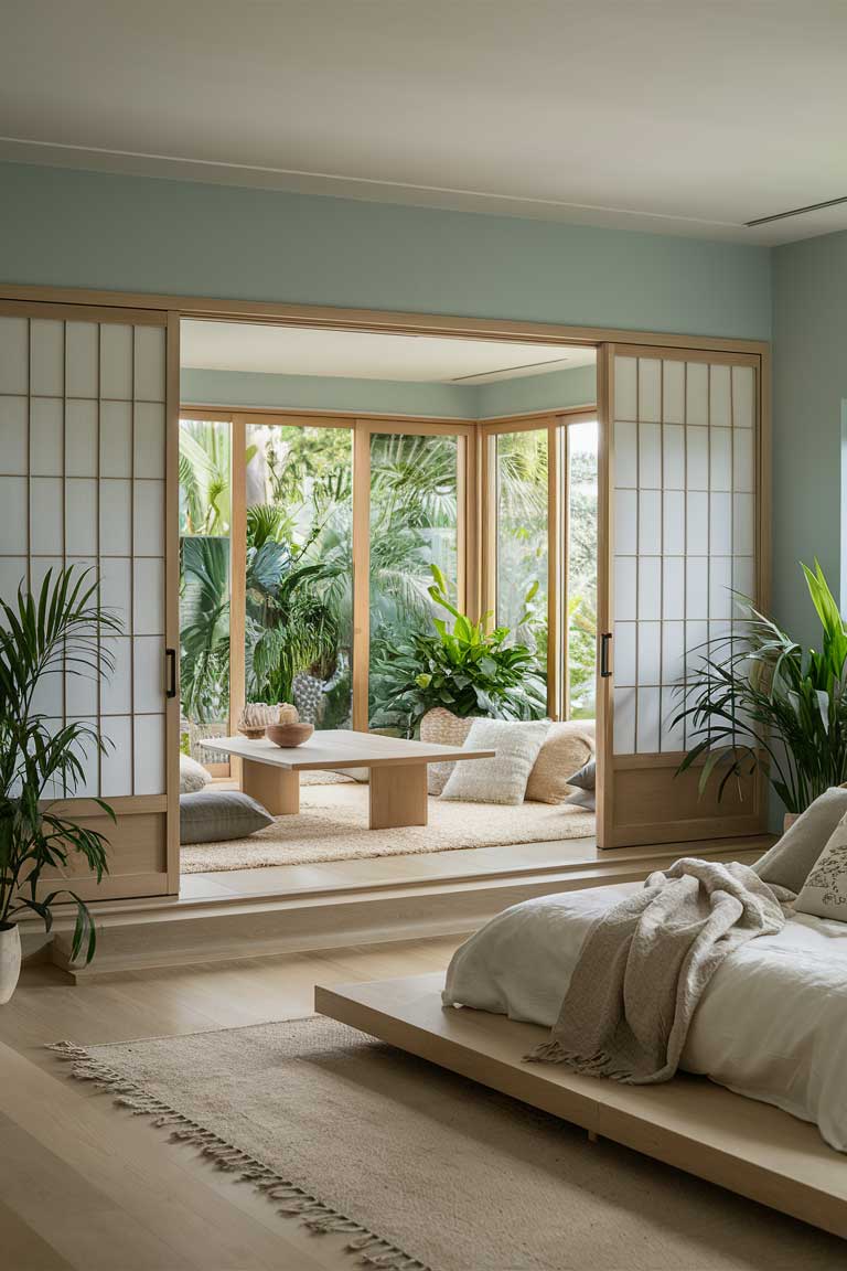
{"label": "glass pane just right of the sunroom's wooden corner post", "polygon": [[504,432],[497,454],[497,624],[527,644],[546,679],[547,430]]}

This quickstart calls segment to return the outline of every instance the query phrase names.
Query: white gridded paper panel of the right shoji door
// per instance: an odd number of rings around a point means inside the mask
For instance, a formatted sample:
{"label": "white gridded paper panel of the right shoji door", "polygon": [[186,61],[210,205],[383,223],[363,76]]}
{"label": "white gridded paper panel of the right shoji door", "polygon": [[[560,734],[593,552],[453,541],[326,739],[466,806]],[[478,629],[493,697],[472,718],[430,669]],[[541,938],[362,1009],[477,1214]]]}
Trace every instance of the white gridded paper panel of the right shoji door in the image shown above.
{"label": "white gridded paper panel of the right shoji door", "polygon": [[674,691],[756,592],[753,366],[615,360],[615,752],[681,751]]}

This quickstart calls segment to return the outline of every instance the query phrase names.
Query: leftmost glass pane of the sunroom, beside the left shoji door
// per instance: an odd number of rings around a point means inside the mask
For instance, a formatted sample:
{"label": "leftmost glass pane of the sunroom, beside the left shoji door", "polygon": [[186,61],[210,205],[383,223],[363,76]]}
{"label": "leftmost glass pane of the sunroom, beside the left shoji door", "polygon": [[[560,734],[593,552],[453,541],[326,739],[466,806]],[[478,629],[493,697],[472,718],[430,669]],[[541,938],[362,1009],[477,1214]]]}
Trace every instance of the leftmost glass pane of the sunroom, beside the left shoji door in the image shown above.
{"label": "leftmost glass pane of the sunroom, beside the left shoji door", "polygon": [[179,422],[180,746],[230,731],[230,426]]}

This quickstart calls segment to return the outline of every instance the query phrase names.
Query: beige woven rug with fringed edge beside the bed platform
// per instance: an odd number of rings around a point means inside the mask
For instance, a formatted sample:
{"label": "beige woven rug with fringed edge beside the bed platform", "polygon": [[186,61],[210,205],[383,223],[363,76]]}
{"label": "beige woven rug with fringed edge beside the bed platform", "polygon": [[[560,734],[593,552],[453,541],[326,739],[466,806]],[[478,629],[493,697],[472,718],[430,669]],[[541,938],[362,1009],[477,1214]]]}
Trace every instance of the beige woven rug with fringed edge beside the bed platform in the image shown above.
{"label": "beige woven rug with fringed edge beside the bed platform", "polygon": [[[320,1017],[90,1046],[74,1073],[390,1271],[832,1271],[834,1237]],[[116,1113],[118,1115],[118,1113]],[[163,1150],[166,1150],[163,1146]]]}

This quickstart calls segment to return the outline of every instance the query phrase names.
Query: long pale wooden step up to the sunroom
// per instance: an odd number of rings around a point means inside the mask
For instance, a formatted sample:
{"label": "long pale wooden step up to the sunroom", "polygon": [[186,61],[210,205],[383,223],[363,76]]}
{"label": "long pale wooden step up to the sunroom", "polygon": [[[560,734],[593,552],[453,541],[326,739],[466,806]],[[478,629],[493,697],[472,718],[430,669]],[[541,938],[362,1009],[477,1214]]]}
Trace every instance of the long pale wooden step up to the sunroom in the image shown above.
{"label": "long pale wooden step up to the sunroom", "polygon": [[[750,863],[770,841],[717,840],[698,844],[698,854]],[[61,906],[51,957],[81,981],[116,971],[462,937],[523,900],[639,882],[678,855],[678,845],[608,853],[580,839],[345,862],[356,868],[343,874],[333,863],[239,871],[244,881],[231,892],[215,885],[225,874],[189,874],[185,896],[91,905],[98,953],[90,967],[71,966],[74,911]],[[43,943],[37,919],[23,923],[22,933],[27,951]]]}

